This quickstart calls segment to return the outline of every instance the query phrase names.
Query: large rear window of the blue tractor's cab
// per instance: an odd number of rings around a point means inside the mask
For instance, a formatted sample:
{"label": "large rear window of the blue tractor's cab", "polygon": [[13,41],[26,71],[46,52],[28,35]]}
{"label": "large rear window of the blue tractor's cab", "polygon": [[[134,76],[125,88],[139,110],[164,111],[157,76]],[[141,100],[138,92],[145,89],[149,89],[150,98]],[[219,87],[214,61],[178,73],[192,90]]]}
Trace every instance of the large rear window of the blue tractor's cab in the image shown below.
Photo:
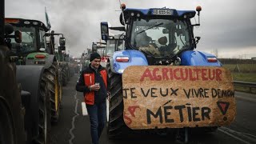
{"label": "large rear window of the blue tractor's cab", "polygon": [[154,57],[170,58],[189,49],[187,23],[175,19],[136,19],[132,23],[130,44]]}

